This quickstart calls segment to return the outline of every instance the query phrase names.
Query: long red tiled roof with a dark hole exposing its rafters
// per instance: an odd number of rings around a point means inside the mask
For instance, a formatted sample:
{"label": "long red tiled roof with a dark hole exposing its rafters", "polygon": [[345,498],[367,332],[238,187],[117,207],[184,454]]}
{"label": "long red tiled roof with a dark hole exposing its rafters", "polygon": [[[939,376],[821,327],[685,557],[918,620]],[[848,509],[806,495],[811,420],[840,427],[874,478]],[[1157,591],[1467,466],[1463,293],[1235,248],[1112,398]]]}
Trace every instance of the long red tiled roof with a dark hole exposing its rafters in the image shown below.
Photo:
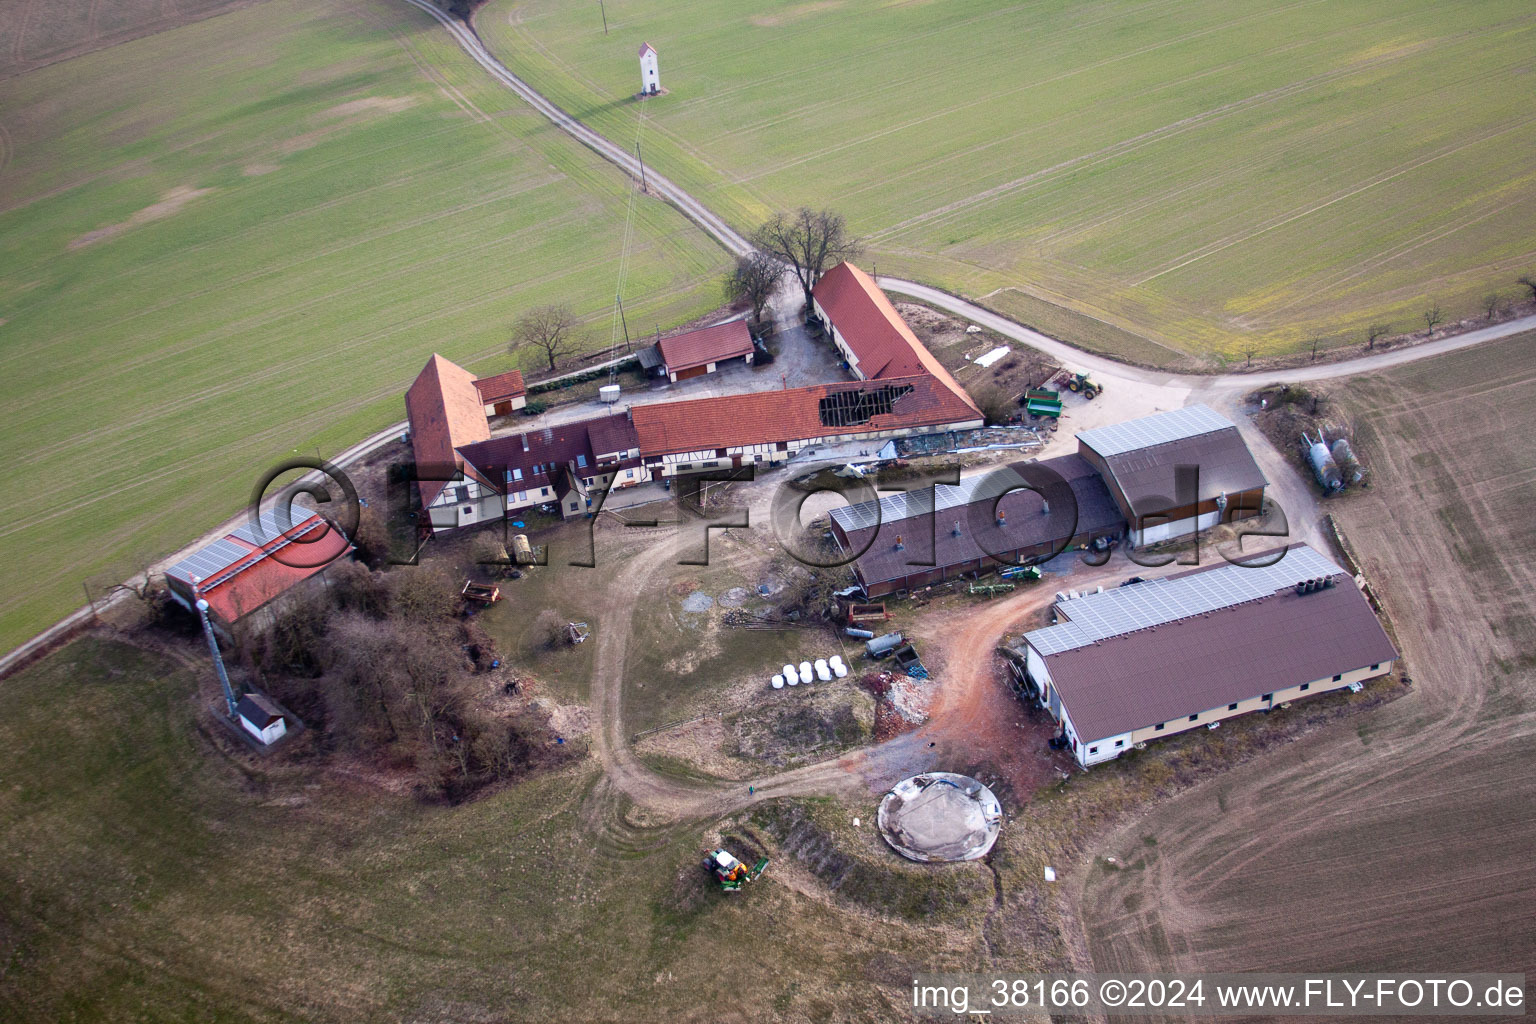
{"label": "long red tiled roof with a dark hole exposing its rafters", "polygon": [[[889,413],[879,413],[857,424],[822,422],[820,401],[851,391],[876,393],[880,388],[909,388],[897,398]],[[963,393],[963,391],[962,391]],[[782,391],[751,391],[697,398],[687,402],[636,405],[630,411],[639,434],[641,456],[734,448],[780,441],[811,441],[834,434],[937,427],[975,422],[982,418],[968,402],[928,375],[845,384],[814,384]]]}

